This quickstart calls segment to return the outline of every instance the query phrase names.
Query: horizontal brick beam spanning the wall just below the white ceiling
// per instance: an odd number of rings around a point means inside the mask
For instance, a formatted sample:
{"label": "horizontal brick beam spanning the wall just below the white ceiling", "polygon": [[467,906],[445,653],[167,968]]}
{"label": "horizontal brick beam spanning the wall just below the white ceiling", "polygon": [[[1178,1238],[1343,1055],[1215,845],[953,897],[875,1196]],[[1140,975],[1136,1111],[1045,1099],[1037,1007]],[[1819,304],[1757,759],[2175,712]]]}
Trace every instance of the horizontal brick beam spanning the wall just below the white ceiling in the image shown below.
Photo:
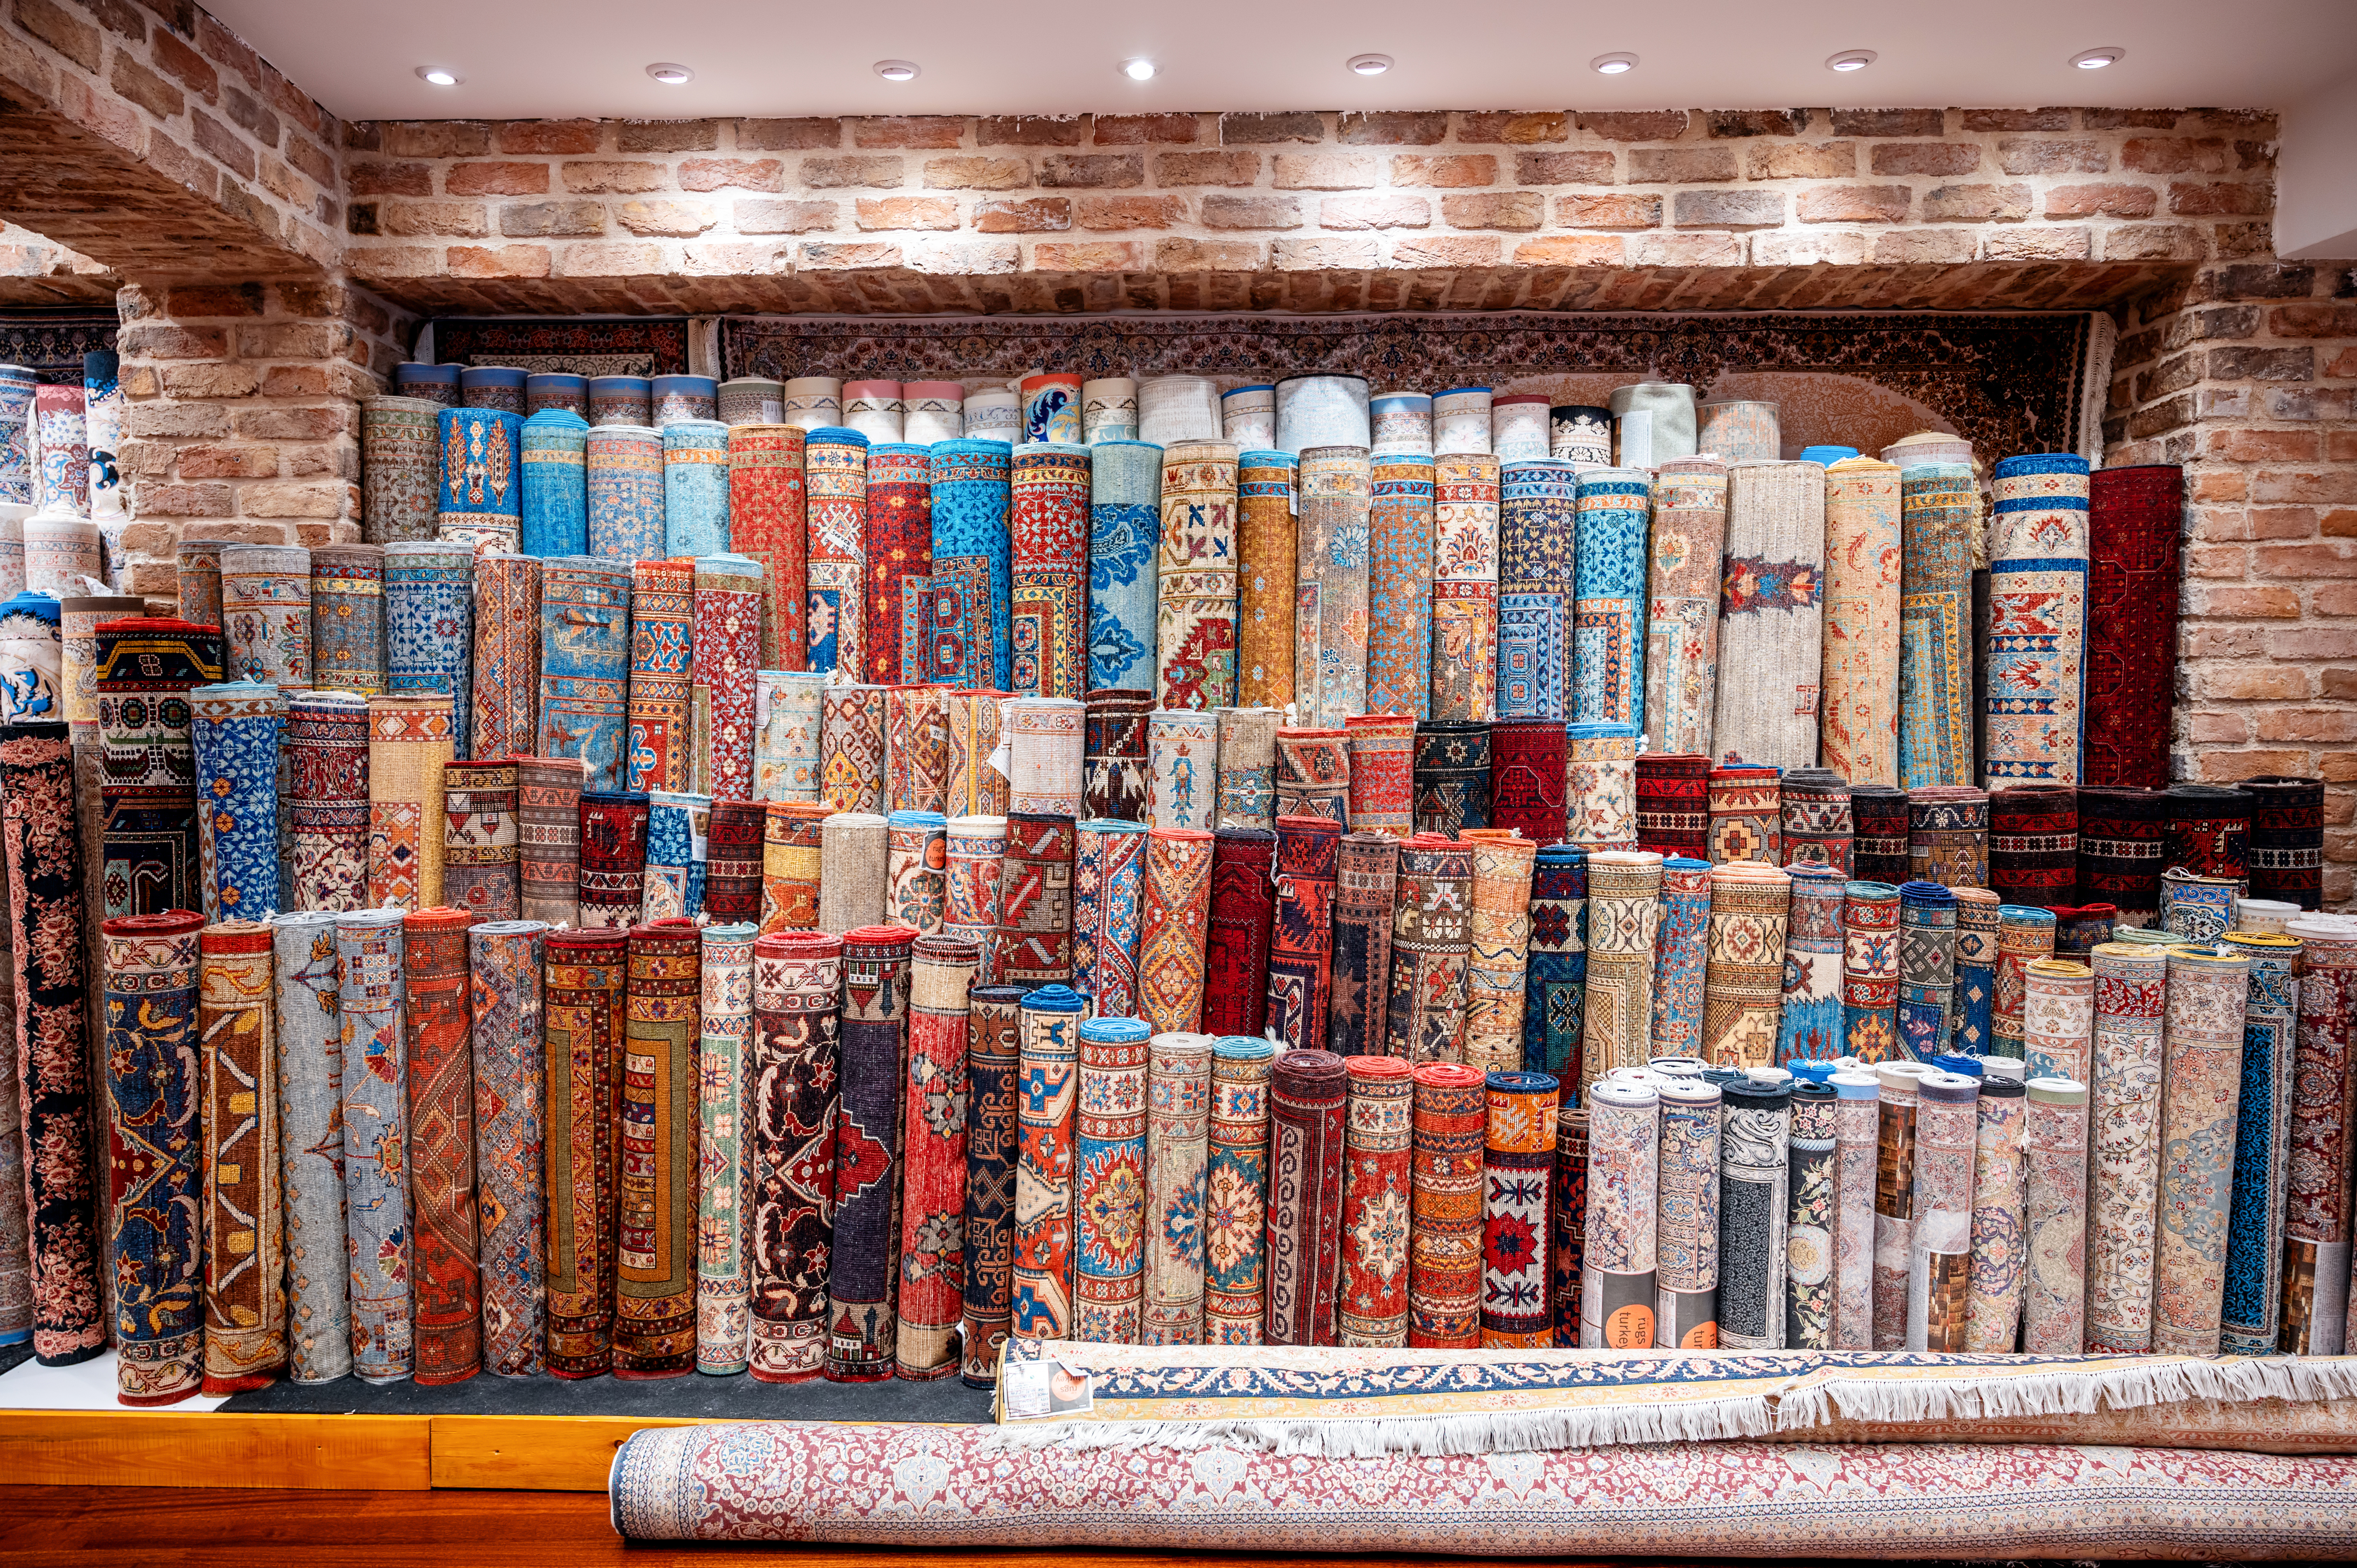
{"label": "horizontal brick beam spanning the wall just below the white ceiling", "polygon": [[429,120],[346,127],[431,309],[2105,304],[2263,252],[2265,113]]}

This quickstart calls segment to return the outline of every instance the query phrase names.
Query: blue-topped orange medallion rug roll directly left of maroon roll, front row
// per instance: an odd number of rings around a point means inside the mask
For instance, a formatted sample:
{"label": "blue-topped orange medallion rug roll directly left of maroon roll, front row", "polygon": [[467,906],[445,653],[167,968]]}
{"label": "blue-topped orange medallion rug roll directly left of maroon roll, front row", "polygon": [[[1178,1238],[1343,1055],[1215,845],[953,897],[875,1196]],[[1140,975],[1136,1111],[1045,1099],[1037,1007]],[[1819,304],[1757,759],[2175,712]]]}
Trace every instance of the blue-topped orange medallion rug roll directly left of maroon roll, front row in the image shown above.
{"label": "blue-topped orange medallion rug roll directly left of maroon roll, front row", "polygon": [[1261,1344],[1268,1309],[1268,1075],[1277,1047],[1211,1042],[1211,1129],[1202,1210],[1202,1339]]}

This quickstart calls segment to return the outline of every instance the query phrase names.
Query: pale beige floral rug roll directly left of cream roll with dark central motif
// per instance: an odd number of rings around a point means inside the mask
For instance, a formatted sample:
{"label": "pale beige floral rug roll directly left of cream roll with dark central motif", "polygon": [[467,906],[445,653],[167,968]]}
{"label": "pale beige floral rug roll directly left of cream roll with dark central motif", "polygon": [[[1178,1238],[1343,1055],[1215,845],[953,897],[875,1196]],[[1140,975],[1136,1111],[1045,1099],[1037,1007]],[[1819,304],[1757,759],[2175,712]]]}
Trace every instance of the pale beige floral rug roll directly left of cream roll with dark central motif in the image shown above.
{"label": "pale beige floral rug roll directly left of cream roll with dark central motif", "polygon": [[[1610,450],[1610,431],[1598,434]],[[1582,467],[1582,486],[1600,467]],[[1711,719],[1718,703],[1718,568],[1725,549],[1728,467],[1711,457],[1662,465],[1652,476],[1652,597],[1643,627],[1640,722],[1648,750],[1711,752]]]}

